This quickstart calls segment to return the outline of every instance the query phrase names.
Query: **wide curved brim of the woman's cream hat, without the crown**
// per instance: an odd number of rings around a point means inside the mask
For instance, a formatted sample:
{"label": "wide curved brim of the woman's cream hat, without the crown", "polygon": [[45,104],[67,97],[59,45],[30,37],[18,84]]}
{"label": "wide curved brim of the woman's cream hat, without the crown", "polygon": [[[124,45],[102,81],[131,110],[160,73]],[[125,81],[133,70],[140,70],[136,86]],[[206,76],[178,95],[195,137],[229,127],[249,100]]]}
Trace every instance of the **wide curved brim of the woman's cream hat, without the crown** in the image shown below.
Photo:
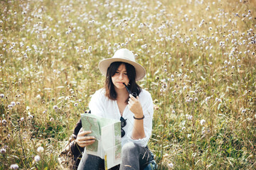
{"label": "wide curved brim of the woman's cream hat, without the crown", "polygon": [[141,64],[138,64],[137,62],[132,62],[131,60],[125,60],[125,59],[120,59],[120,58],[109,58],[109,59],[100,61],[99,69],[103,75],[106,76],[107,68],[110,67],[110,64],[112,62],[127,62],[128,64],[131,64],[135,68],[135,72],[136,72],[135,79],[137,81],[143,79],[146,75],[146,70],[144,69],[144,67],[142,67]]}

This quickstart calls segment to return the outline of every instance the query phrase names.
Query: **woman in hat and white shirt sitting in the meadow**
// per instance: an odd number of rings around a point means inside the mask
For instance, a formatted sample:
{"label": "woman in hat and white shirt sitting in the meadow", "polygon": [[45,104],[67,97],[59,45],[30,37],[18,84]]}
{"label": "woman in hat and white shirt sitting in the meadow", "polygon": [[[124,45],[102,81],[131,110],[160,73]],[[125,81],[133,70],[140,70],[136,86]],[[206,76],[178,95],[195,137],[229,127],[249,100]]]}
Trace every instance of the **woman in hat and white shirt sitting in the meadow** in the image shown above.
{"label": "woman in hat and white shirt sitting in the meadow", "polygon": [[[122,163],[113,169],[144,169],[151,157],[146,145],[154,112],[151,95],[136,83],[145,76],[145,69],[127,49],[119,49],[112,58],[102,60],[99,69],[106,76],[105,88],[93,94],[89,108],[94,115],[121,120]],[[124,84],[137,96],[129,94]],[[90,131],[80,131],[75,142],[86,147],[94,139]],[[85,152],[78,169],[104,169],[104,160]]]}

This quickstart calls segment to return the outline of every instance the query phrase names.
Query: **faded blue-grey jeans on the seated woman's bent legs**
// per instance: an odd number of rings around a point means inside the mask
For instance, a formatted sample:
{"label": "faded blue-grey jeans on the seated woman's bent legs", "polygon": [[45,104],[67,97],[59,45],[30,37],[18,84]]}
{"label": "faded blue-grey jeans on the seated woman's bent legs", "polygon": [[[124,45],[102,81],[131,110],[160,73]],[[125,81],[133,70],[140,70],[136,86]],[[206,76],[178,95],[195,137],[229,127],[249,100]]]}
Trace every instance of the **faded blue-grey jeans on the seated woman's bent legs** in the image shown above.
{"label": "faded blue-grey jeans on the seated woman's bent legs", "polygon": [[[122,163],[112,169],[144,169],[149,164],[151,154],[147,147],[141,147],[133,142],[129,142],[122,147]],[[82,154],[82,159],[78,165],[78,170],[99,170],[104,169],[104,160],[100,157]]]}

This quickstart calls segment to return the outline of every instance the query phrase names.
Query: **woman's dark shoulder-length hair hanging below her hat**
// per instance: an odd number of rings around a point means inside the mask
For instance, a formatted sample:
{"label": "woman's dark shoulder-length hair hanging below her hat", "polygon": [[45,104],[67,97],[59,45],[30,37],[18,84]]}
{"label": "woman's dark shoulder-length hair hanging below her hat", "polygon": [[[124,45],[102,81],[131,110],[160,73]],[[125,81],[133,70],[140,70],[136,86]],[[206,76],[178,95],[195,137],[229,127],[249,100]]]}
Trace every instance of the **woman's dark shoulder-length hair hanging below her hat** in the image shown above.
{"label": "woman's dark shoulder-length hair hanging below her hat", "polygon": [[[110,64],[110,67],[107,68],[107,75],[105,80],[106,96],[111,100],[117,99],[117,92],[114,90],[112,77],[117,72],[117,69],[121,64],[124,64],[125,69],[127,70],[127,77],[129,79],[128,89],[132,92],[136,92],[138,96],[140,92],[142,92],[142,88],[136,83],[135,68],[131,64],[128,64],[127,62],[112,62]],[[127,102],[128,102],[128,98],[127,98]]]}

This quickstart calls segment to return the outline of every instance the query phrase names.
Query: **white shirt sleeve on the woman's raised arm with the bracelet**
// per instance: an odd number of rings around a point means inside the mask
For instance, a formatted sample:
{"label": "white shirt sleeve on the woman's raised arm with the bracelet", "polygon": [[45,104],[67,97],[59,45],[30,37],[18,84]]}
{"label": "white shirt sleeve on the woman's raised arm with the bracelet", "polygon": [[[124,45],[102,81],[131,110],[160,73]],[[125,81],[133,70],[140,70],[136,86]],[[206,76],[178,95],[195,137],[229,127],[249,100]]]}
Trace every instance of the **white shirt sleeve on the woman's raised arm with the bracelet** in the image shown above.
{"label": "white shirt sleeve on the woman's raised arm with the bracelet", "polygon": [[154,107],[153,107],[153,101],[151,98],[151,94],[149,92],[144,91],[144,94],[142,98],[140,98],[140,101],[142,103],[142,111],[145,116],[144,118],[144,131],[146,137],[139,139],[139,140],[133,140],[131,138],[132,132],[129,132],[127,135],[129,140],[131,142],[134,142],[142,147],[146,147],[147,143],[149,142],[149,139],[151,137],[151,132],[152,132],[152,121],[153,121],[153,114],[154,114]]}

